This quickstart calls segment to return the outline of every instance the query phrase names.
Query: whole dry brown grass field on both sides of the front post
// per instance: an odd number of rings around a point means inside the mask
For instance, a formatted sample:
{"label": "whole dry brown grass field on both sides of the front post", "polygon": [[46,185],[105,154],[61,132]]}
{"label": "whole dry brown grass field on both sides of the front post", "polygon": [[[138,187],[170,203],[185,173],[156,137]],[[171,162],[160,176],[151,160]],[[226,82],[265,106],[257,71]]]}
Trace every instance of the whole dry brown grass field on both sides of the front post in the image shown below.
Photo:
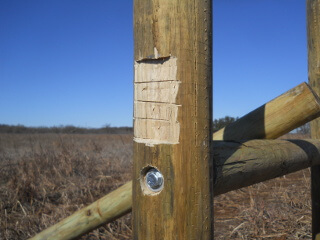
{"label": "whole dry brown grass field on both sides of the front post", "polygon": [[[131,168],[131,135],[0,134],[0,239],[32,237],[130,180]],[[308,169],[214,204],[215,239],[311,239]],[[131,239],[130,221],[81,239]]]}

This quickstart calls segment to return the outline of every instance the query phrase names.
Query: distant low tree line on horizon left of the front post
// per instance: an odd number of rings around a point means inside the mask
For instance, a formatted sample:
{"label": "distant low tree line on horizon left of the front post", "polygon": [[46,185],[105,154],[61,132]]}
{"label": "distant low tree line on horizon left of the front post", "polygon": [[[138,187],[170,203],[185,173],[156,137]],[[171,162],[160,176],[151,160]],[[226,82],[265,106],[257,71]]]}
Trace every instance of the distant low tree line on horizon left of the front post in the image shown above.
{"label": "distant low tree line on horizon left of the front post", "polygon": [[133,133],[132,127],[84,128],[72,125],[54,127],[26,127],[24,125],[0,124],[0,133],[60,133],[60,134],[126,134]]}

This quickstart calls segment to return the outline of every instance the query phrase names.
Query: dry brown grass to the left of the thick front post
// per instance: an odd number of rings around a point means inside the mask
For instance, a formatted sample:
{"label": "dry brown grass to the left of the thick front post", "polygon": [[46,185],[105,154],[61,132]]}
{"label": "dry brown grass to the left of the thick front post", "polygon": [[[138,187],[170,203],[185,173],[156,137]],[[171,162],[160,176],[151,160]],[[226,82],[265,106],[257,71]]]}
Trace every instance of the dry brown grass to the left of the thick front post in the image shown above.
{"label": "dry brown grass to the left of the thick front post", "polygon": [[[0,239],[29,238],[129,181],[131,139],[0,135]],[[126,216],[84,239],[130,239],[129,225]]]}

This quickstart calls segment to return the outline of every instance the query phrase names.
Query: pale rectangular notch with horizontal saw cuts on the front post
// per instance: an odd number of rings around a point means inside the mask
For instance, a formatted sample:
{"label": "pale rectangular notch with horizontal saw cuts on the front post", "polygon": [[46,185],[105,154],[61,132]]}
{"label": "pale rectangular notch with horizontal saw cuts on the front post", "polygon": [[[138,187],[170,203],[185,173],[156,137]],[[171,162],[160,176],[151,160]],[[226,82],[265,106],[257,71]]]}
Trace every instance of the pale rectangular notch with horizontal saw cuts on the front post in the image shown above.
{"label": "pale rectangular notch with horizontal saw cuts on the front post", "polygon": [[180,81],[176,78],[177,58],[135,63],[134,141],[147,146],[179,143],[176,97]]}

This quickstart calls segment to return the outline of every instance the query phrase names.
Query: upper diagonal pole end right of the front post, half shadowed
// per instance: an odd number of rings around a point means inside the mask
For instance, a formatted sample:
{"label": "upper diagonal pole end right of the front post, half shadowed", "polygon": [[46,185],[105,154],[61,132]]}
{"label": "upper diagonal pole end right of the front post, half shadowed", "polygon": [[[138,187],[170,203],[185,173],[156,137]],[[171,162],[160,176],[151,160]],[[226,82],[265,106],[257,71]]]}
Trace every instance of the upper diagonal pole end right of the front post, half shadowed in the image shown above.
{"label": "upper diagonal pole end right of the front post, half shadowed", "polygon": [[275,139],[319,116],[318,95],[302,83],[215,132],[213,140]]}

